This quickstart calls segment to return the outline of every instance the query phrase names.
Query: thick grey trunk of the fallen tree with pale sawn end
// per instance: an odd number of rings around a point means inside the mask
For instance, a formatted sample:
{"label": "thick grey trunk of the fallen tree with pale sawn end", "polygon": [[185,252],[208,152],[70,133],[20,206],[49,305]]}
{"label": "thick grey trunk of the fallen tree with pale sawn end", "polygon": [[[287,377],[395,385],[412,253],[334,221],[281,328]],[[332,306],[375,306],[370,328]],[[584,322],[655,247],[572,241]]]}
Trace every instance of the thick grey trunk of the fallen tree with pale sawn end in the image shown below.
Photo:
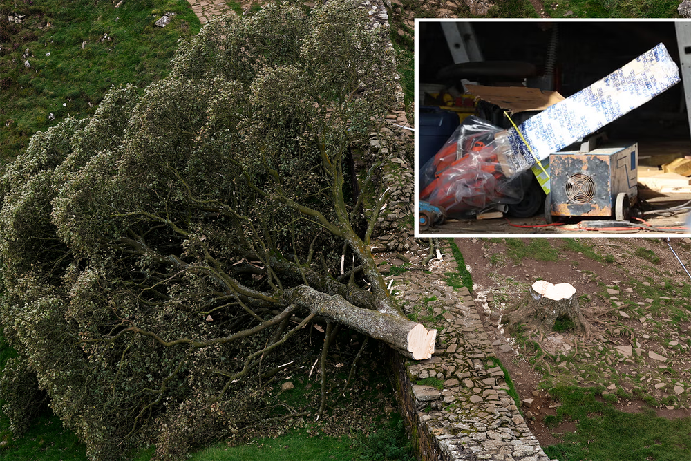
{"label": "thick grey trunk of the fallen tree with pale sawn end", "polygon": [[292,301],[325,319],[384,341],[410,359],[429,359],[434,352],[437,330],[427,330],[402,314],[358,308],[339,295],[305,285],[292,290]]}

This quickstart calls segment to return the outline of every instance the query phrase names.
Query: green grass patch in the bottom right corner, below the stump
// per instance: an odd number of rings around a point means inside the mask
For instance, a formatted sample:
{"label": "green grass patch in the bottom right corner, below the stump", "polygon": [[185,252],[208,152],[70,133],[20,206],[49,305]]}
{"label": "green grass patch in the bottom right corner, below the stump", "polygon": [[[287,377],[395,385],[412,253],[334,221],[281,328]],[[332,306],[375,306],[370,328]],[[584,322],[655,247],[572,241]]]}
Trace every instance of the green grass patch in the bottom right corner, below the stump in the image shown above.
{"label": "green grass patch in the bottom right corner, below the stump", "polygon": [[568,419],[576,422],[576,431],[565,434],[562,444],[543,447],[550,458],[560,461],[688,459],[691,417],[665,420],[652,410],[623,413],[598,402],[596,395],[601,392],[600,388],[551,389],[551,395],[562,406],[557,408],[556,417],[546,418],[545,422],[557,424]]}

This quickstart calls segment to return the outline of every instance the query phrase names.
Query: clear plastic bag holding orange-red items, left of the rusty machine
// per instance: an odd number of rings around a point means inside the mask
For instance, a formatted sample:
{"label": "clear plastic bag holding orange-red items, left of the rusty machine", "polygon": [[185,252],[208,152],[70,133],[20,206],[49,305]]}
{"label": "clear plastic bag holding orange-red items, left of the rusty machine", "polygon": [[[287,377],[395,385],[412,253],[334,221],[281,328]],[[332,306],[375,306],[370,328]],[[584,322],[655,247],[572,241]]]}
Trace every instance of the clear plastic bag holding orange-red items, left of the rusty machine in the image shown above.
{"label": "clear plastic bag holding orange-red items, left of the rusty machine", "polygon": [[466,120],[420,170],[420,200],[443,207],[446,216],[480,214],[495,205],[519,203],[525,181],[513,166],[507,131],[478,117]]}

